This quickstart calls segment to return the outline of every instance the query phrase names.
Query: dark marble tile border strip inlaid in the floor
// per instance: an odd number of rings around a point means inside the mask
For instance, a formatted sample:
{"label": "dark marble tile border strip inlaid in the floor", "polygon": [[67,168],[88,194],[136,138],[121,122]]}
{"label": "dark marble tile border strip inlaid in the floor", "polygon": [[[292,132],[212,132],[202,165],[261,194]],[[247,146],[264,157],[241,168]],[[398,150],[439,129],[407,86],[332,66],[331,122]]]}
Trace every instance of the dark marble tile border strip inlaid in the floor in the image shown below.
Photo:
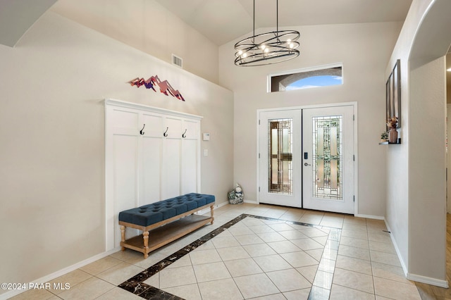
{"label": "dark marble tile border strip inlaid in the floor", "polygon": [[[233,220],[228,221],[226,224],[222,225],[221,227],[218,227],[215,230],[212,230],[211,232],[207,233],[203,237],[200,237],[199,239],[192,242],[191,244],[184,246],[182,249],[180,249],[178,251],[175,251],[170,256],[163,258],[161,261],[159,261],[158,263],[155,263],[154,265],[152,265],[151,267],[142,271],[141,273],[131,277],[130,279],[126,280],[125,282],[122,282],[121,285],[118,285],[118,287],[121,287],[122,289],[125,289],[126,291],[131,292],[144,299],[183,300],[183,298],[180,298],[173,294],[169,294],[168,292],[164,292],[161,289],[152,287],[151,285],[146,285],[144,283],[144,281],[149,279],[156,273],[159,273],[161,270],[166,268],[168,265],[171,265],[171,263],[175,263],[175,261],[178,261],[178,259],[182,258],[186,254],[189,254],[191,251],[193,251],[197,247],[202,246],[202,244],[208,242],[210,239],[213,239],[214,237],[216,237],[216,235],[219,235],[224,230],[230,228],[231,226],[235,225],[236,223],[240,222],[241,220],[243,220],[247,217],[257,218],[257,219],[261,219],[261,220],[274,220],[274,221],[282,220],[282,219],[277,219],[277,218],[268,218],[268,217],[262,217],[260,215],[248,215],[246,213],[243,213],[242,215],[237,216],[237,218],[234,218]],[[290,221],[290,220],[283,220],[283,221],[285,221],[285,223],[290,223],[290,224],[295,224],[295,225],[304,225],[307,227],[313,227],[313,228],[318,228],[318,229],[328,228],[328,229],[340,230],[338,228],[321,226],[321,225],[313,225],[313,224]]]}

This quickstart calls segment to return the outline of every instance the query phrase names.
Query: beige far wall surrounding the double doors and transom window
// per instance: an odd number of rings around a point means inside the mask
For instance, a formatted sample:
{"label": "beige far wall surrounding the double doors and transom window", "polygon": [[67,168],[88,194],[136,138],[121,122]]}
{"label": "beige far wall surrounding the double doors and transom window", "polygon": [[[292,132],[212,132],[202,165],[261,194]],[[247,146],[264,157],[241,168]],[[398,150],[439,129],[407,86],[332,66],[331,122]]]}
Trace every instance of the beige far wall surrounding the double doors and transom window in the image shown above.
{"label": "beige far wall surrounding the double doors and transom window", "polygon": [[[385,66],[400,23],[319,25],[299,30],[300,56],[275,65],[233,64],[233,42],[220,47],[219,80],[235,92],[234,178],[246,200],[257,199],[257,109],[358,102],[359,215],[385,215]],[[236,42],[236,41],[235,41]],[[329,63],[343,63],[342,86],[266,93],[266,75]]]}

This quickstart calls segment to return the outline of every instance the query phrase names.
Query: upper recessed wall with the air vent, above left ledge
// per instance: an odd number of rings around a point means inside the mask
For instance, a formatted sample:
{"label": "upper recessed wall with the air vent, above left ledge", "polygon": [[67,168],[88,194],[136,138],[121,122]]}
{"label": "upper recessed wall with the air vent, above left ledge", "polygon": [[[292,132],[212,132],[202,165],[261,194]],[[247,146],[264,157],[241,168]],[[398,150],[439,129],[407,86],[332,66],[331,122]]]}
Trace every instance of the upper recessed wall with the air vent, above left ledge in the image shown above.
{"label": "upper recessed wall with the air vent, above left ledge", "polygon": [[154,0],[58,0],[60,15],[218,83],[218,46]]}

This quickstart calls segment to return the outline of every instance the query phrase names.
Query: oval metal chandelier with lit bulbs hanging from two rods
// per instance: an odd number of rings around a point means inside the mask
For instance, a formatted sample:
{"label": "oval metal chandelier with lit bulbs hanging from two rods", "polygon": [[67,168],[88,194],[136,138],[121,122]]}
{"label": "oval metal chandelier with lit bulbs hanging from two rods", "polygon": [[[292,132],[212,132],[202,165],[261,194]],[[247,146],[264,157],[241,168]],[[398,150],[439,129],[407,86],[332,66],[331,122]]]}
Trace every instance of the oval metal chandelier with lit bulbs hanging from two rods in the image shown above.
{"label": "oval metal chandelier with lit bulbs hanging from two rods", "polygon": [[242,39],[235,44],[235,65],[254,66],[271,65],[288,61],[299,56],[299,32],[280,30],[278,20],[278,0],[276,0],[276,31],[255,35],[255,0],[254,33],[252,37]]}

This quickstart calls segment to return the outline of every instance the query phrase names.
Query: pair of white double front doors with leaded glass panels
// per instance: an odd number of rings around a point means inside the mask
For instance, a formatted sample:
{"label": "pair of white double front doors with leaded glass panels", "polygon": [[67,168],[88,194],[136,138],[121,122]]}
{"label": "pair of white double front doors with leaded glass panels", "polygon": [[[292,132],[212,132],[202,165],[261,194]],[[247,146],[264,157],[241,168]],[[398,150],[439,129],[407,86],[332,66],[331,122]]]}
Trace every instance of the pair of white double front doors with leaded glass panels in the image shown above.
{"label": "pair of white double front doors with leaded glass panels", "polygon": [[354,106],[259,113],[259,203],[354,213]]}

